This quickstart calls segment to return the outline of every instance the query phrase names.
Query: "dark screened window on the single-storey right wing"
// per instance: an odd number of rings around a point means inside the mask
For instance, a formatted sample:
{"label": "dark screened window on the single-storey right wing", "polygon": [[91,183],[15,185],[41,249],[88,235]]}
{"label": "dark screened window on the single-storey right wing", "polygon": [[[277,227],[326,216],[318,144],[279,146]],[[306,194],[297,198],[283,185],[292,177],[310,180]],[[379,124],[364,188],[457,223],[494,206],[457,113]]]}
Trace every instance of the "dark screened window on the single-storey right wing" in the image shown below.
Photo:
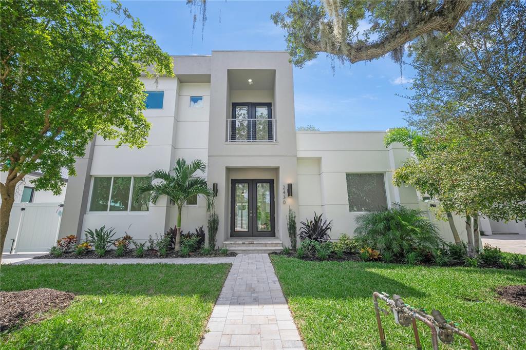
{"label": "dark screened window on the single-storey right wing", "polygon": [[378,211],[387,207],[383,174],[346,174],[349,211]]}

